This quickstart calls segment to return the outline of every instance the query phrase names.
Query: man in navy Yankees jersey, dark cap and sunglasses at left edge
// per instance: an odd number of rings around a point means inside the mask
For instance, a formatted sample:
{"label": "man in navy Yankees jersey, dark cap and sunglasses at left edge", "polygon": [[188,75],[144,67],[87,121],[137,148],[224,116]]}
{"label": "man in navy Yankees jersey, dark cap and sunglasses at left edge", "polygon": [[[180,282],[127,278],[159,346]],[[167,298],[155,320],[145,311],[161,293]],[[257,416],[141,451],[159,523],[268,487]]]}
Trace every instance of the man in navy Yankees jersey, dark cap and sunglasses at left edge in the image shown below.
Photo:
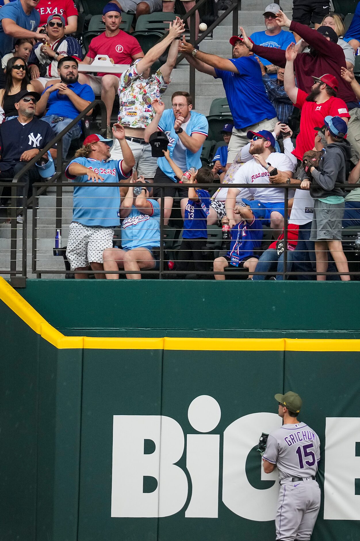
{"label": "man in navy Yankees jersey, dark cap and sunglasses at left edge", "polygon": [[[34,116],[39,98],[37,92],[24,90],[18,103],[15,103],[19,116],[0,126],[0,180],[11,182],[26,162],[37,155],[40,158],[41,150],[55,137],[49,124]],[[40,180],[38,169],[33,166],[21,177],[20,182],[32,184]],[[21,193],[22,189],[18,196]]]}

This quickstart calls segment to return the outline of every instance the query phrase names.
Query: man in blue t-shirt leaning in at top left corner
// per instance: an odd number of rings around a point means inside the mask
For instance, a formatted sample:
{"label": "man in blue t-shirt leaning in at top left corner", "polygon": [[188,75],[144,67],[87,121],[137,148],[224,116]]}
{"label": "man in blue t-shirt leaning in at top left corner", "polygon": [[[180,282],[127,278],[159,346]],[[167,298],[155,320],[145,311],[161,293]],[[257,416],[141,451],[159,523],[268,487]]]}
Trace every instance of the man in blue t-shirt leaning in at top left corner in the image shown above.
{"label": "man in blue t-shirt leaning in at top left corner", "polygon": [[29,37],[45,41],[44,34],[37,32],[40,22],[35,9],[39,0],[16,0],[4,5],[0,11],[0,56],[11,52],[16,39]]}

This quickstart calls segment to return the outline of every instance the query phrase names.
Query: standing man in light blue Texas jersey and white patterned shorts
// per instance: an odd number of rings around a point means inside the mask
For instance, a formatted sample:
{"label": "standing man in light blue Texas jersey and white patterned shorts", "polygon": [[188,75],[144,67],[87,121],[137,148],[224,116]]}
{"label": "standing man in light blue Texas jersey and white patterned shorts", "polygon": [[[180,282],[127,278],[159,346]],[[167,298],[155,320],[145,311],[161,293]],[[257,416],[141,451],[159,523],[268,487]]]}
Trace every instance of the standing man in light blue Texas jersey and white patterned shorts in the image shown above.
{"label": "standing man in light blue Texas jersey and white patterned shorts", "polygon": [[[97,271],[103,270],[103,250],[112,247],[113,228],[120,225],[120,187],[104,187],[104,184],[127,179],[135,160],[120,124],[114,124],[113,136],[120,143],[123,160],[107,161],[113,140],[93,134],[86,137],[65,171],[68,179],[84,182],[84,186],[74,188],[66,249],[71,268],[78,271],[75,278],[89,278],[81,271],[89,271],[90,267],[96,272],[96,278],[105,278]],[[99,181],[100,184],[96,184]]]}

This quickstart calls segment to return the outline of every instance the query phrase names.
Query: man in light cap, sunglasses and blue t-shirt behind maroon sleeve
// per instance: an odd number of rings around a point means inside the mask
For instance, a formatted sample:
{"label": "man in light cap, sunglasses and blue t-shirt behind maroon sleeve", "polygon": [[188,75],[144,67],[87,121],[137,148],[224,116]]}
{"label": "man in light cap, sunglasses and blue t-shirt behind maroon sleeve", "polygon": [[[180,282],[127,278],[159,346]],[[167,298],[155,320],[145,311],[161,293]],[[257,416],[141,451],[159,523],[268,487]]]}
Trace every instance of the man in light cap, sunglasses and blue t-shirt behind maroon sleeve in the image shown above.
{"label": "man in light cap, sunglasses and blue t-shirt behind maroon sleeve", "polygon": [[[266,30],[263,30],[262,32],[253,32],[250,36],[250,39],[252,39],[256,45],[285,50],[290,43],[295,41],[293,32],[283,30],[276,21],[276,14],[280,10],[282,11],[279,4],[269,4],[266,6],[263,13]],[[230,39],[230,43],[232,43],[232,39],[236,40],[236,37],[237,36],[233,36]],[[271,79],[276,79],[277,66],[271,64],[266,58],[259,57],[259,60],[263,63],[266,74],[269,75]]]}

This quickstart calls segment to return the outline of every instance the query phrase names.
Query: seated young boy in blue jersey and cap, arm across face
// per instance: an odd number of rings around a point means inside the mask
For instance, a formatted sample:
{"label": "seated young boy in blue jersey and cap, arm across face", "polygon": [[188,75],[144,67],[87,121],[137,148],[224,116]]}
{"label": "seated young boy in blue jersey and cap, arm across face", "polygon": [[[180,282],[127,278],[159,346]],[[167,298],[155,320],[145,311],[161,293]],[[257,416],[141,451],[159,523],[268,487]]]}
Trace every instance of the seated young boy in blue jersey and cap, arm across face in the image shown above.
{"label": "seated young boy in blue jersey and cap, arm across face", "polygon": [[[252,279],[259,256],[254,250],[259,250],[262,241],[261,219],[266,214],[266,208],[260,201],[242,200],[242,206],[234,209],[235,226],[230,231],[230,249],[226,256],[216,258],[214,261],[214,273],[224,272],[229,265],[246,268],[249,271],[248,279]],[[239,217],[238,217],[239,216]],[[224,216],[222,223],[229,223]],[[214,274],[215,280],[225,280],[225,274]]]}

